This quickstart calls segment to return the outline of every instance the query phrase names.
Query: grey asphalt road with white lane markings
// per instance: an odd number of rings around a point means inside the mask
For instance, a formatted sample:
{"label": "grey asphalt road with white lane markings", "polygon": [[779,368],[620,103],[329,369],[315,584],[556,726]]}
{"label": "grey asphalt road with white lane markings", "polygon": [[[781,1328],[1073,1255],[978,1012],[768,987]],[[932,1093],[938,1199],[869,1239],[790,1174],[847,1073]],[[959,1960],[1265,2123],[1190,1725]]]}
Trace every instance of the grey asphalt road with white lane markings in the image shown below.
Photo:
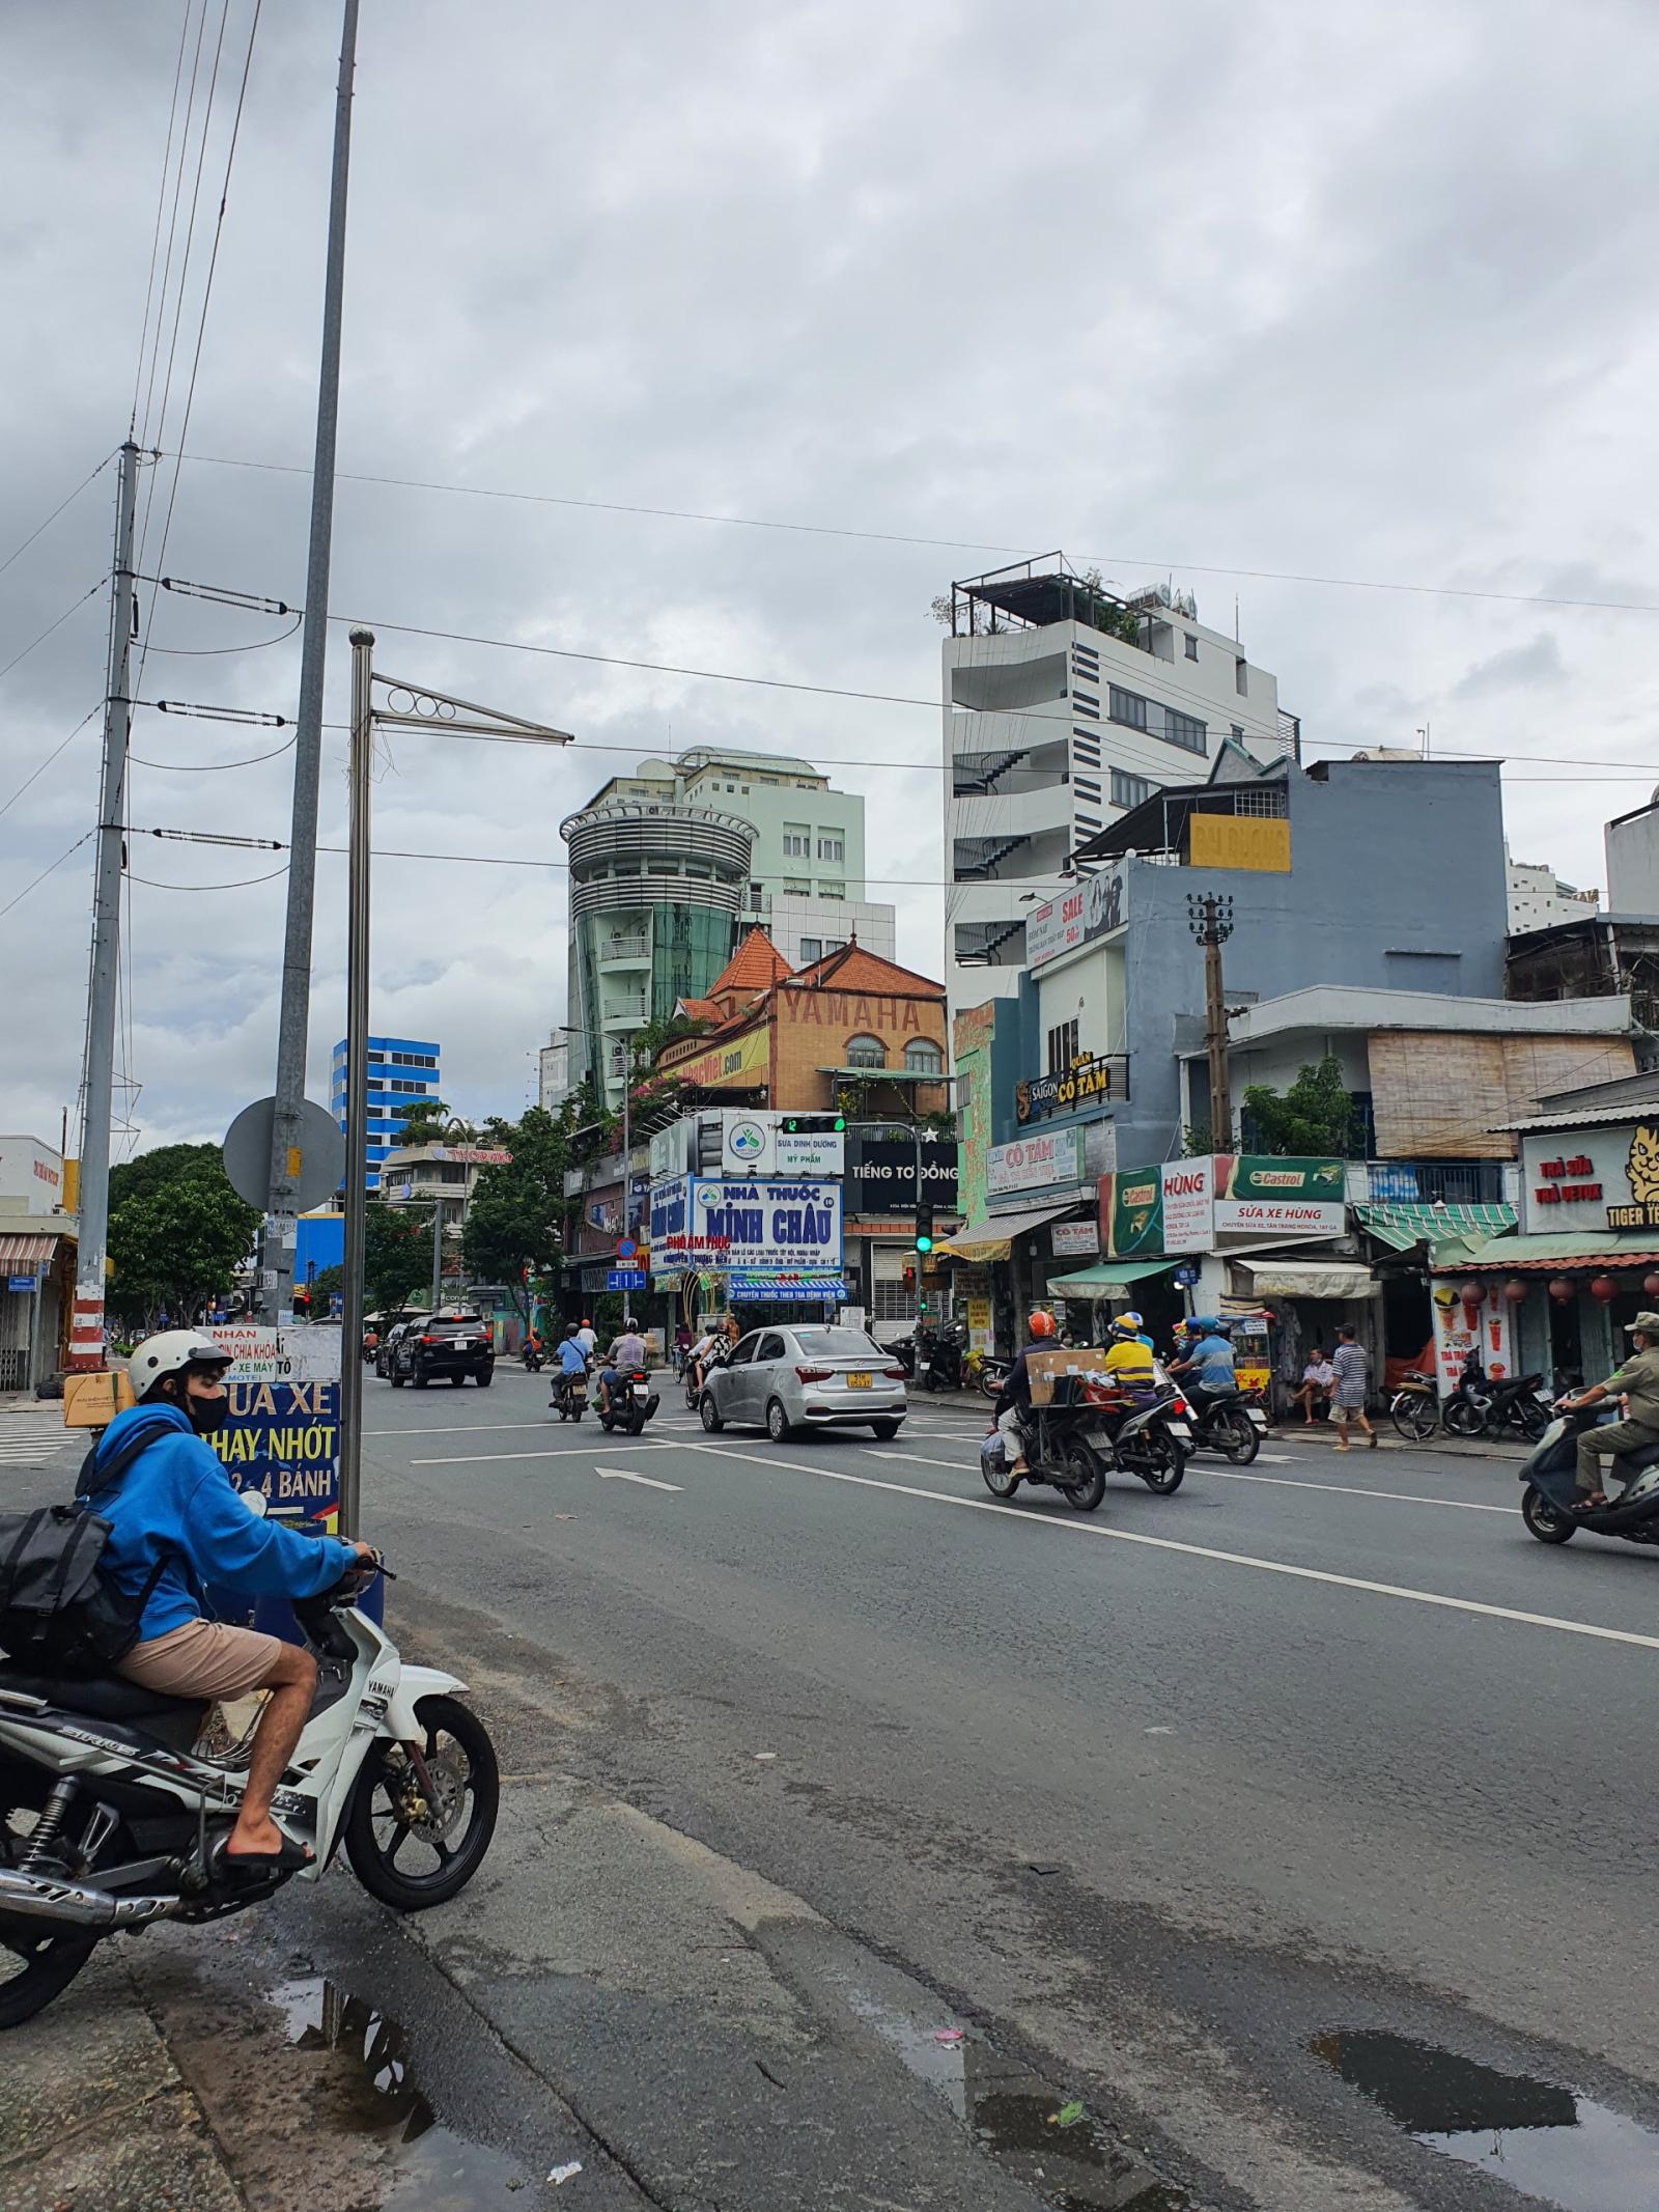
{"label": "grey asphalt road with white lane markings", "polygon": [[[509,1770],[376,1997],[495,2031],[427,2048],[440,2115],[723,2212],[1659,2205],[1659,1559],[1535,1544],[1498,1460],[1290,1433],[1077,1515],[993,1502],[971,1411],[774,1449],[544,1400],[369,1385],[392,1626]],[[268,1927],[378,1986],[323,1891]]]}

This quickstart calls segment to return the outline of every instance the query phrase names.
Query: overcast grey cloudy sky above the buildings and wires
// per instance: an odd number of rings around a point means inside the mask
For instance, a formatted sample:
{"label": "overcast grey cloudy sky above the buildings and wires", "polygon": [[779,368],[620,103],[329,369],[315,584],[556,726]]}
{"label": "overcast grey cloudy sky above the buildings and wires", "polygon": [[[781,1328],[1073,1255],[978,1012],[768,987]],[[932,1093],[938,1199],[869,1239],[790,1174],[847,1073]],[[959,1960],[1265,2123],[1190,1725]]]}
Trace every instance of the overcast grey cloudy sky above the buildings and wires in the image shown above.
{"label": "overcast grey cloudy sky above the buildings and wires", "polygon": [[[199,456],[310,462],[338,13],[263,9]],[[126,434],[184,15],[0,20],[0,560]],[[250,18],[228,0],[164,425],[170,303],[150,396],[168,453]],[[1237,595],[1310,757],[1425,721],[1506,752],[1517,858],[1601,880],[1601,821],[1659,776],[1659,615],[1451,593],[1659,602],[1650,0],[365,0],[356,82],[341,469],[956,546],[341,482],[336,613],[927,701],[929,599],[995,549],[1064,546],[1126,586],[1172,573],[1223,630]],[[186,208],[192,177],[195,150]],[[181,254],[184,215],[175,279]],[[0,679],[0,807],[102,699],[113,473],[0,575],[0,666],[82,602]],[[184,462],[164,566],[299,602],[305,520],[303,473]],[[142,697],[292,717],[296,641],[219,650],[281,628],[146,588]],[[555,863],[606,774],[699,741],[883,763],[836,781],[869,799],[900,958],[942,973],[936,708],[385,628],[378,664],[582,739],[398,739],[378,845]],[[345,675],[334,628],[332,721]],[[131,821],[285,838],[292,754],[201,772],[285,734],[139,712],[137,761],[186,772],[135,765]],[[95,821],[97,750],[93,717],[0,816],[0,905]],[[343,827],[334,730],[323,841]],[[170,885],[279,858],[133,841],[144,1144],[217,1137],[272,1086],[281,876]],[[316,1097],[343,894],[323,856]],[[82,845],[0,918],[0,1128],[55,1141],[73,1104],[88,898]],[[374,1026],[438,1037],[453,1106],[515,1113],[564,1015],[562,872],[385,858],[374,929]]]}

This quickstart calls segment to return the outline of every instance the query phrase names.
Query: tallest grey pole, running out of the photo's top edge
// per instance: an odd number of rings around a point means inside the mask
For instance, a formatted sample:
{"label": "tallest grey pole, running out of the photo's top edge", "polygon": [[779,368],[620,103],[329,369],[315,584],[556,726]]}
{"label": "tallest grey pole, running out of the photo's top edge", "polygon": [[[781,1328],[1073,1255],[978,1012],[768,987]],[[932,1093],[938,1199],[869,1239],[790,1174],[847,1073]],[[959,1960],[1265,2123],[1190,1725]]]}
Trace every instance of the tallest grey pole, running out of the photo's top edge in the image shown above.
{"label": "tallest grey pole, running out of the photo's top edge", "polygon": [[[356,9],[345,0],[341,77],[334,93],[334,175],[327,199],[323,272],[323,363],[316,378],[316,453],[312,460],[312,538],[305,560],[305,630],[299,659],[299,734],[294,739],[294,823],[288,838],[288,927],[283,938],[283,1004],[276,1020],[276,1110],[270,1133],[270,1199],[265,1208],[265,1321],[294,1318],[294,1212],[299,1203],[299,1117],[305,1104],[305,1046],[312,1013],[312,907],[316,902],[316,794],[323,774],[323,672],[327,661],[327,571],[334,540],[334,440],[341,416],[341,319],[345,301],[345,186],[352,166],[352,77]],[[263,1283],[263,1272],[261,1272]]]}

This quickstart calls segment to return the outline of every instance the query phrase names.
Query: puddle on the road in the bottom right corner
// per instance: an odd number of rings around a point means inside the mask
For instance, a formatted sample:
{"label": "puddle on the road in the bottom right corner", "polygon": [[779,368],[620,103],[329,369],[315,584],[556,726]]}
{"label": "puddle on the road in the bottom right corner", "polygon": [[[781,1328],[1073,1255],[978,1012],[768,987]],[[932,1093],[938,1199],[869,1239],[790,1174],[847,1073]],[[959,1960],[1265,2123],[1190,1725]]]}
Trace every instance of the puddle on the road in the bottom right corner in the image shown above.
{"label": "puddle on the road in the bottom right corner", "polygon": [[1307,2046],[1429,2150],[1562,2212],[1655,2212],[1659,2132],[1559,2081],[1498,2073],[1380,2028]]}

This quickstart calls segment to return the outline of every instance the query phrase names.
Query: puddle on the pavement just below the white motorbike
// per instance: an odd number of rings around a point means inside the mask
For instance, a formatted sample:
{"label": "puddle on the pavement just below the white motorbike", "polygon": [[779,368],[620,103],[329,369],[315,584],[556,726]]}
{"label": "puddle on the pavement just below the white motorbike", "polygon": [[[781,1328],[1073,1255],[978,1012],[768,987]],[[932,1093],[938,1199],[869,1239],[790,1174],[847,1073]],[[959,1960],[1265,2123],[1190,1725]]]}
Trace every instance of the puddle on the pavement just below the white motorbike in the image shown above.
{"label": "puddle on the pavement just below the white motorbike", "polygon": [[285,2015],[288,2042],[319,2053],[330,2070],[319,2126],[376,2146],[383,2166],[376,2203],[473,2212],[522,2201],[518,2192],[529,2181],[522,2166],[438,2121],[409,2079],[409,2039],[396,2020],[323,1978],[283,1982],[268,2002]]}

